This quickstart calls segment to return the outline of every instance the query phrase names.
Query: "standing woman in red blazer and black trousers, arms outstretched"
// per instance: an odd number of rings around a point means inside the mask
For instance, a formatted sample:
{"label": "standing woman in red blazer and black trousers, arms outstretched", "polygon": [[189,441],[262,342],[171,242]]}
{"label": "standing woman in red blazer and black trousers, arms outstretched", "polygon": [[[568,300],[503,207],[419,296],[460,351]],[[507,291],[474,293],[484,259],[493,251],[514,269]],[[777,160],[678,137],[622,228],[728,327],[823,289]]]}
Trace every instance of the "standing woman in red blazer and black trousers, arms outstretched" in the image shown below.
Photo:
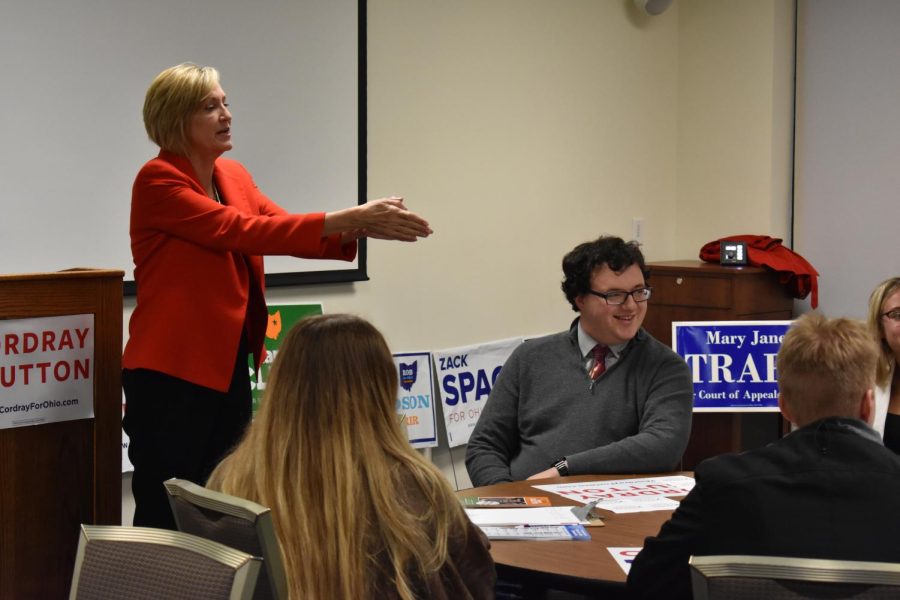
{"label": "standing woman in red blazer and black trousers, arms outstretched", "polygon": [[162,482],[203,484],[250,421],[247,355],[263,358],[263,255],[352,260],[356,240],[431,233],[401,198],[288,214],[232,148],[231,112],[211,67],[160,73],[144,102],[161,149],[131,198],[137,306],[122,358],[123,427],[134,465],[135,525],[175,528]]}

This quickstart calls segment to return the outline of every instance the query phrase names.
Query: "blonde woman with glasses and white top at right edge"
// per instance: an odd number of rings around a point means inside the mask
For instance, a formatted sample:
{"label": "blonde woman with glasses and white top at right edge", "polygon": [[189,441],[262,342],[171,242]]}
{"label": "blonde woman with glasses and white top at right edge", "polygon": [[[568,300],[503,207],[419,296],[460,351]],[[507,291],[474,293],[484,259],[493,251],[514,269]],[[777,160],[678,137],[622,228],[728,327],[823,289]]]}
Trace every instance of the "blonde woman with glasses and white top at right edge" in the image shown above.
{"label": "blonde woman with glasses and white top at right edge", "polygon": [[878,343],[875,428],[884,445],[900,454],[900,277],[885,279],[869,296],[869,331]]}

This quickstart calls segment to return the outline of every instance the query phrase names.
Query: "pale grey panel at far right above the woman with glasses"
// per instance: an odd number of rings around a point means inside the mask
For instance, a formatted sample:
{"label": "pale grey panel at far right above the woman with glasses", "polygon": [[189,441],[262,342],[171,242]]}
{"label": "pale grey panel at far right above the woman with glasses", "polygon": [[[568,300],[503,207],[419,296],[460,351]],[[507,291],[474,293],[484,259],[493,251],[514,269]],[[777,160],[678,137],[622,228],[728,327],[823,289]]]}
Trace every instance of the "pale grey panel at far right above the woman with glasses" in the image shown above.
{"label": "pale grey panel at far right above the woman with glasses", "polygon": [[794,249],[821,275],[819,309],[863,318],[900,275],[900,3],[801,0]]}

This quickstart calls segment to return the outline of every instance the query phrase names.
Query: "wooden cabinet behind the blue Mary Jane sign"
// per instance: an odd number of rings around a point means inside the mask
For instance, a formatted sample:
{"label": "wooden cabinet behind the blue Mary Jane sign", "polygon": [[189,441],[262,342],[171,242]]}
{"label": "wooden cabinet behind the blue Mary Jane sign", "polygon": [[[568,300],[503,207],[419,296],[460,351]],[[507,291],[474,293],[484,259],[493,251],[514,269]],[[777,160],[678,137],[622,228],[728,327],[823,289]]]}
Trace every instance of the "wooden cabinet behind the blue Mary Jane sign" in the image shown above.
{"label": "wooden cabinet behind the blue Mary Jane sign", "polygon": [[[793,298],[777,275],[760,267],[731,267],[697,260],[655,262],[644,329],[672,345],[673,321],[790,319]],[[777,413],[695,413],[682,468],[725,452],[765,445],[782,435]]]}

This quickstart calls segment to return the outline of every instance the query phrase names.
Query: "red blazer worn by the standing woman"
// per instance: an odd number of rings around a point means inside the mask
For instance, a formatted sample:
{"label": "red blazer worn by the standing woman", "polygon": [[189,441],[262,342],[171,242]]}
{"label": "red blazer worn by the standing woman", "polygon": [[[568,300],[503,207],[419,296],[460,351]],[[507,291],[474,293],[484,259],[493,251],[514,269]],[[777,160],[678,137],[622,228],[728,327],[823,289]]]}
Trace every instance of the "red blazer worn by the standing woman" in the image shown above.
{"label": "red blazer worn by the standing woman", "polygon": [[224,205],[206,196],[186,158],[162,151],[134,181],[137,306],[122,366],[226,391],[245,316],[257,365],[263,357],[262,256],[352,260],[356,244],[323,239],[325,213],[288,214],[237,161],[218,159],[214,178]]}

